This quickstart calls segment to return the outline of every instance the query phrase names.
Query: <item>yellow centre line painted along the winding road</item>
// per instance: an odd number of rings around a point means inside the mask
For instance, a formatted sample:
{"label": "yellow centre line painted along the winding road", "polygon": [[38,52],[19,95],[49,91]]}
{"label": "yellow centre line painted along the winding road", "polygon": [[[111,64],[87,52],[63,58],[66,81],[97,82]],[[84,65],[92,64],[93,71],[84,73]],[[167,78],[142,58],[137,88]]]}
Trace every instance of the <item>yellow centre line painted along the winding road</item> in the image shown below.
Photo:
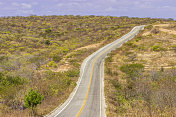
{"label": "yellow centre line painted along the winding road", "polygon": [[[132,30],[133,31],[133,30]],[[136,33],[137,31],[133,32],[132,34]],[[129,33],[128,33],[129,34]],[[127,35],[127,37],[129,38],[131,35]],[[126,38],[127,38],[126,37]],[[90,91],[90,86],[91,86],[91,83],[92,83],[92,78],[93,78],[93,69],[94,69],[94,65],[95,65],[95,62],[97,61],[97,59],[103,55],[104,53],[106,53],[107,51],[109,51],[110,49],[112,49],[113,47],[115,47],[116,45],[120,44],[121,42],[123,42],[124,40],[120,40],[119,42],[117,42],[115,45],[113,46],[110,46],[109,48],[107,48],[104,52],[101,52],[94,60],[93,64],[92,64],[92,69],[91,69],[91,77],[90,77],[90,81],[89,81],[89,87],[88,87],[88,90],[87,90],[87,94],[86,94],[86,97],[84,99],[84,102],[83,102],[83,105],[82,107],[80,108],[79,112],[77,113],[76,117],[79,117],[85,107],[85,104],[87,102],[87,98],[88,98],[88,95],[89,95],[89,91]]]}

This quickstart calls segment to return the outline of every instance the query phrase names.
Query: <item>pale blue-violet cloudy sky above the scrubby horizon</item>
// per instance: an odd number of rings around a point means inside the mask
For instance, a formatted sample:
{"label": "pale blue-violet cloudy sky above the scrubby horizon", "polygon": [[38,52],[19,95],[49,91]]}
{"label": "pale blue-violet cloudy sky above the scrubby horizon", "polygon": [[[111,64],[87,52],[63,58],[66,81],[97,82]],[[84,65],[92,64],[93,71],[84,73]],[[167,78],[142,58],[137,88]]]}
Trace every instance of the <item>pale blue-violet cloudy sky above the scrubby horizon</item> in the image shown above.
{"label": "pale blue-violet cloudy sky above the scrubby horizon", "polygon": [[176,19],[176,0],[0,0],[0,16],[103,15]]}

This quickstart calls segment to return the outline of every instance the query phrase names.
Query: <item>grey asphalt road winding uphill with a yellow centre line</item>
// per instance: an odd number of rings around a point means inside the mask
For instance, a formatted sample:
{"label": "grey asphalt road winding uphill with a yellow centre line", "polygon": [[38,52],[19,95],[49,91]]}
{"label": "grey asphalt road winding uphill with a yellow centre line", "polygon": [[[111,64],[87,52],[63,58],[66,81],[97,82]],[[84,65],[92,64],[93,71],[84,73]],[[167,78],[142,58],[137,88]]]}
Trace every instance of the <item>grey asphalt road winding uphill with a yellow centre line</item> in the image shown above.
{"label": "grey asphalt road winding uphill with a yellow centre line", "polygon": [[142,30],[134,27],[128,34],[104,46],[82,63],[77,87],[69,99],[47,117],[105,117],[104,59],[112,50],[121,47]]}

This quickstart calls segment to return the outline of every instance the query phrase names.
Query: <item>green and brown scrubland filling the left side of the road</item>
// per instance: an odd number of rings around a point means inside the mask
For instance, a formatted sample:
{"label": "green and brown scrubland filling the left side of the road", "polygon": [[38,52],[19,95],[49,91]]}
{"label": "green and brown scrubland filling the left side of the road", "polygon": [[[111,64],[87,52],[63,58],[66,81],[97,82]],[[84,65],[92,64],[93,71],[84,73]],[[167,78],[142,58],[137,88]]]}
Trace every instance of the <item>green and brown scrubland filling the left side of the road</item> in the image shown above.
{"label": "green and brown scrubland filling the left side of the road", "polygon": [[43,97],[35,106],[36,115],[46,115],[68,98],[88,55],[136,25],[164,21],[71,15],[1,17],[0,116],[30,116],[31,107],[24,105],[31,88]]}

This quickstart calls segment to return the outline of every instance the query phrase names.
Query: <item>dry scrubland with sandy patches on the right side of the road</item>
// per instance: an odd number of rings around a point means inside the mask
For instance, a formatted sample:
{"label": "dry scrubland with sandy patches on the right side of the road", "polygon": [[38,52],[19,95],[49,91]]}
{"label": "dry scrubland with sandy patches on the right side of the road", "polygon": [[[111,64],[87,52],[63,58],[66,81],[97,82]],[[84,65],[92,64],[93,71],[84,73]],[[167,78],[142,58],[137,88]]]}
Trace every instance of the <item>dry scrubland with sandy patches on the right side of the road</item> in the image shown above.
{"label": "dry scrubland with sandy patches on the right side of the road", "polygon": [[105,61],[108,117],[176,115],[174,21],[154,23]]}

